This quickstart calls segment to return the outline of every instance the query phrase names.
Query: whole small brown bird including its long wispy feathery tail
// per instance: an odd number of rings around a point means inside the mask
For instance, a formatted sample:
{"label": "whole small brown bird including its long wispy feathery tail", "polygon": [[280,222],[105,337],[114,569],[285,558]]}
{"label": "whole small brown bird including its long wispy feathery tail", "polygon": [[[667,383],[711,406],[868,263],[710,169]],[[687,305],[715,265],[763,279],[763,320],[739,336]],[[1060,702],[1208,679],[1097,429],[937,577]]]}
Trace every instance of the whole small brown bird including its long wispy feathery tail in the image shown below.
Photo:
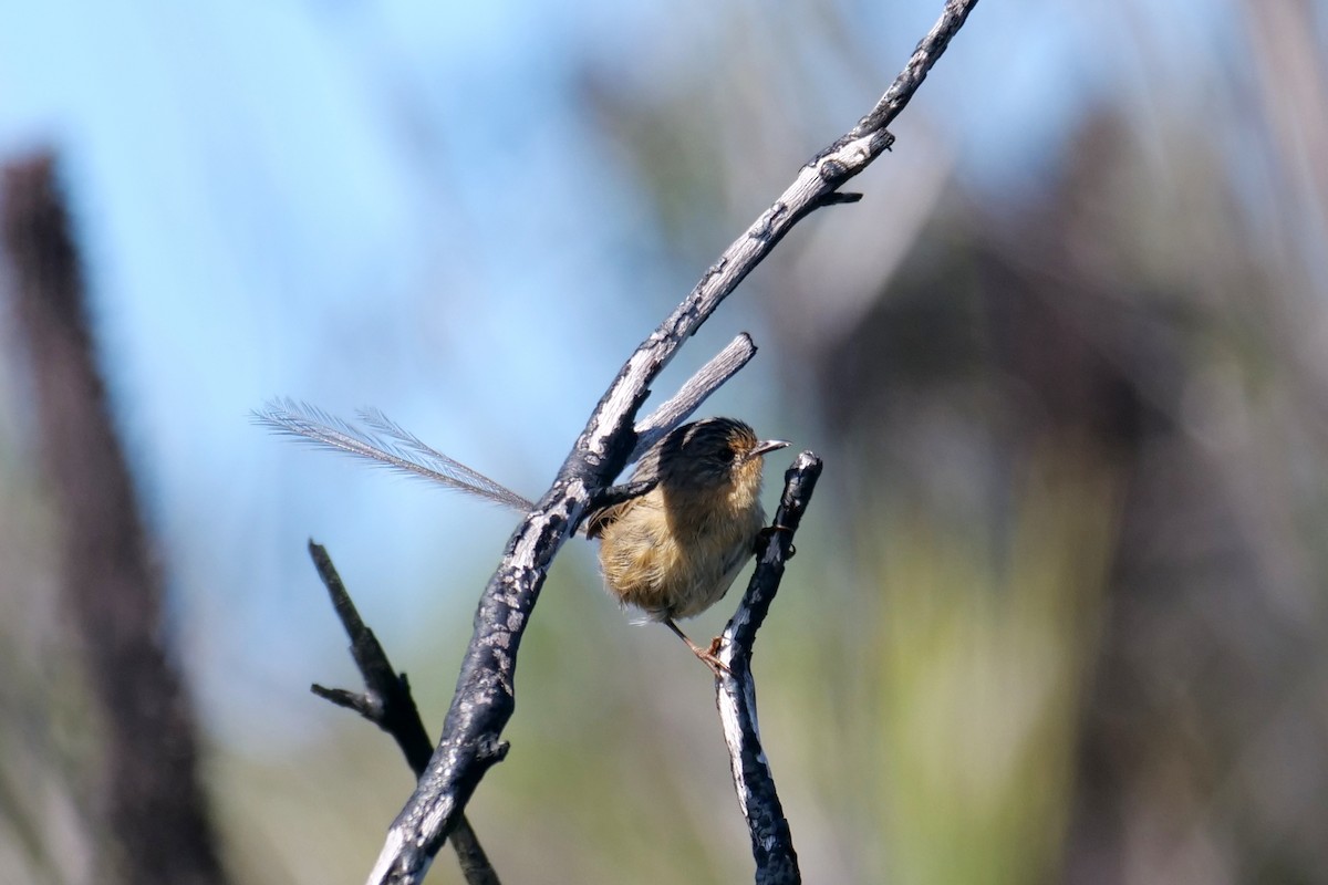
{"label": "whole small brown bird including its long wispy feathery tail", "polygon": [[[368,431],[295,402],[274,402],[255,418],[283,433],[440,482],[529,512],[534,503],[436,451],[380,411],[360,413]],[[624,606],[664,624],[712,670],[713,651],[692,642],[677,618],[718,602],[756,549],[765,525],[762,456],[782,439],[757,439],[733,418],[705,418],[671,430],[636,464],[631,482],[653,482],[643,495],[587,517],[600,539],[608,592]]]}

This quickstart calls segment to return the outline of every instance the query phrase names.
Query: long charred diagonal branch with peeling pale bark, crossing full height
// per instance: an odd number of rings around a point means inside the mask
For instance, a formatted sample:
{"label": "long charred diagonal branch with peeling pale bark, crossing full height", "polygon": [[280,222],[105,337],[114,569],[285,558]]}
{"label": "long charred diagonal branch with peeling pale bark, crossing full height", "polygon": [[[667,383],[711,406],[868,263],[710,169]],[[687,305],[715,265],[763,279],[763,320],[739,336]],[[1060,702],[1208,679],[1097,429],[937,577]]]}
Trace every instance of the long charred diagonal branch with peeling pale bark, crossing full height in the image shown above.
{"label": "long charred diagonal branch with peeling pale bark, crossing full height", "polygon": [[803,216],[843,198],[838,188],[882,154],[894,137],[884,122],[911,98],[976,0],[950,0],[908,68],[858,126],[818,153],[770,208],[740,236],[619,370],[544,496],[507,541],[479,600],[442,739],[414,793],[393,821],[369,882],[420,882],[485,772],[505,750],[515,710],[522,634],[554,556],[586,516],[596,490],[611,484],[636,446],[632,423],[651,382],[720,303]]}

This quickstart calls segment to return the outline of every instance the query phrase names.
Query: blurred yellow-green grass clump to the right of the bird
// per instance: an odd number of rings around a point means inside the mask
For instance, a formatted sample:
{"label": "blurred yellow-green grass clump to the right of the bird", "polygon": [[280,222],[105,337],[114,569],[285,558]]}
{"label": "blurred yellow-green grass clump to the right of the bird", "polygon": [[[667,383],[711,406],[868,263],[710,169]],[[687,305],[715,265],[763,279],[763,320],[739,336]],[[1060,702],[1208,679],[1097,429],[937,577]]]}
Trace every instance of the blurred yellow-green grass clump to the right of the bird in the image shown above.
{"label": "blurred yellow-green grass clump to the right of the bird", "polygon": [[863,617],[825,674],[823,730],[830,813],[861,816],[842,845],[858,876],[1057,878],[1117,494],[1046,452],[1016,500],[1004,536],[898,507],[862,523]]}

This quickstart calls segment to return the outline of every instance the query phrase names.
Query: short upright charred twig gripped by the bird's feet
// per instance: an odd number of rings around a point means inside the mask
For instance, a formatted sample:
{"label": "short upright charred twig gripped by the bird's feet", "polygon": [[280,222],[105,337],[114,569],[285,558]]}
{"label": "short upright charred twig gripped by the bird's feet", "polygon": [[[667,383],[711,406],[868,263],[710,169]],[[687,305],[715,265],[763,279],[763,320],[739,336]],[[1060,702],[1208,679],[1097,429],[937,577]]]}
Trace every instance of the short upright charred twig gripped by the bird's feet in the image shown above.
{"label": "short upright charred twig gripped by the bird's feet", "polygon": [[811,500],[821,476],[821,459],[805,451],[784,474],[784,496],[774,523],[765,533],[756,572],[737,612],[718,638],[718,658],[728,667],[716,679],[714,705],[720,711],[724,740],[729,746],[729,764],[738,805],[752,836],[757,885],[795,885],[802,881],[793,835],[784,816],[774,775],[761,747],[761,730],[756,715],[756,679],[752,675],[752,646],[761,629],[774,594],[784,579],[785,563],[793,556],[793,535]]}

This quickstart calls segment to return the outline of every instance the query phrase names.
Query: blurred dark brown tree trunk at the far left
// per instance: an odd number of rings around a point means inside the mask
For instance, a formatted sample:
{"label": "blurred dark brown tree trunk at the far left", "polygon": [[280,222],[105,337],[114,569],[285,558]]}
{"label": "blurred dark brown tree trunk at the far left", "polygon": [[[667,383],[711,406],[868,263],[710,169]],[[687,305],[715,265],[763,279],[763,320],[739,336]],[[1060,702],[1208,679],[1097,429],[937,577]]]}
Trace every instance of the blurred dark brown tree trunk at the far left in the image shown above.
{"label": "blurred dark brown tree trunk at the far left", "polygon": [[223,882],[193,713],[162,647],[162,586],[106,409],[78,255],[49,157],[5,170],[4,245],[61,527],[64,606],[100,705],[101,881]]}

